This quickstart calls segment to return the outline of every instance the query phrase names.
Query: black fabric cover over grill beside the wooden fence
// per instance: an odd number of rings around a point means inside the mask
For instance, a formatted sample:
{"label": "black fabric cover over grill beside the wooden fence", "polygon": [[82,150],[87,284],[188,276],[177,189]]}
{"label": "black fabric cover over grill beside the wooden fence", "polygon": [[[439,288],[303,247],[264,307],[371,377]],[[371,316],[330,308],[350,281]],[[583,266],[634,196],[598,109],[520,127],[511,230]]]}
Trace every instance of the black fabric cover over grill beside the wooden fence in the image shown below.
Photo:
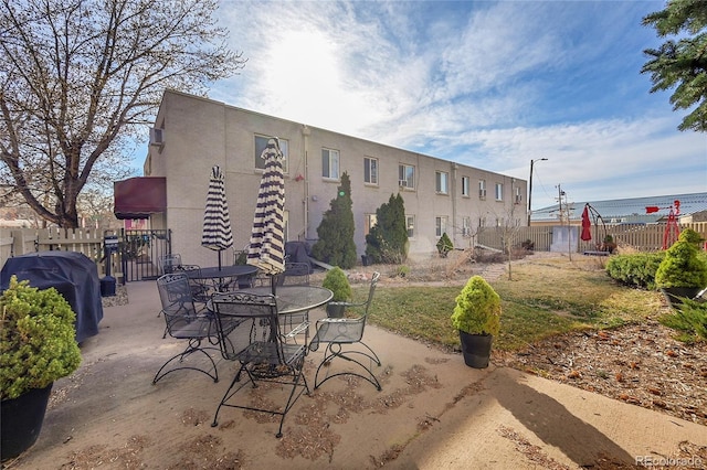
{"label": "black fabric cover over grill beside the wooden fence", "polygon": [[0,271],[0,291],[10,286],[12,275],[39,289],[53,287],[64,296],[76,313],[76,342],[98,334],[101,279],[88,257],[75,252],[40,252],[9,258]]}

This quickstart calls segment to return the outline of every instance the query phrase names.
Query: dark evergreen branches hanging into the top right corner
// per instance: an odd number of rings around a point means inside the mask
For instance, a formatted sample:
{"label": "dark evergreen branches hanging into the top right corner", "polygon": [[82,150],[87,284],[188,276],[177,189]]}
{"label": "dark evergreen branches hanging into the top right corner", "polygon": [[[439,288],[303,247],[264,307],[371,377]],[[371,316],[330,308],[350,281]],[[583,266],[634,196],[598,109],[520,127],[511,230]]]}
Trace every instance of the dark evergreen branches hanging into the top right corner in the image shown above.
{"label": "dark evergreen branches hanging into the top right corner", "polygon": [[651,74],[651,93],[675,88],[673,109],[690,109],[679,130],[707,131],[707,1],[671,0],[665,10],[651,13],[643,25],[655,28],[668,40],[659,49],[646,49],[651,57],[641,73]]}

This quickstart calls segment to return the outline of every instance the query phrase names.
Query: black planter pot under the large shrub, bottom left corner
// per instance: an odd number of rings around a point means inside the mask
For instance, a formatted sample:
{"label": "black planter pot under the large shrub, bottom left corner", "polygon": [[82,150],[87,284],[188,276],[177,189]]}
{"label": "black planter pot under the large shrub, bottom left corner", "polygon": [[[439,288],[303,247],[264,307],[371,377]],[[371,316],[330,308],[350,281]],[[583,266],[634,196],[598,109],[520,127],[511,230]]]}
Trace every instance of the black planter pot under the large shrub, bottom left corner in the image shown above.
{"label": "black planter pot under the large shrub, bottom left corner", "polygon": [[44,412],[52,393],[52,385],[32,388],[17,398],[3,399],[0,403],[2,460],[19,456],[36,442],[44,423]]}

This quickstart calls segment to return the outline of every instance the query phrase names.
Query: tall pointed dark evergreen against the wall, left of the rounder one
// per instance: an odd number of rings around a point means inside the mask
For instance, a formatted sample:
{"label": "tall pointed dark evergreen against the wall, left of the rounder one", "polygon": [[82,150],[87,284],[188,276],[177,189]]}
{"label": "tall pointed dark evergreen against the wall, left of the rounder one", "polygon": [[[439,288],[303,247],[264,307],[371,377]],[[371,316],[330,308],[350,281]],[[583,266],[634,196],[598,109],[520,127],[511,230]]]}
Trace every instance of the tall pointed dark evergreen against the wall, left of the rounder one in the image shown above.
{"label": "tall pointed dark evergreen against the wall, left of the rounder one", "polygon": [[354,243],[354,202],[351,180],[347,172],[341,174],[341,185],[329,203],[317,227],[319,239],[312,247],[312,256],[341,269],[356,266],[356,244]]}

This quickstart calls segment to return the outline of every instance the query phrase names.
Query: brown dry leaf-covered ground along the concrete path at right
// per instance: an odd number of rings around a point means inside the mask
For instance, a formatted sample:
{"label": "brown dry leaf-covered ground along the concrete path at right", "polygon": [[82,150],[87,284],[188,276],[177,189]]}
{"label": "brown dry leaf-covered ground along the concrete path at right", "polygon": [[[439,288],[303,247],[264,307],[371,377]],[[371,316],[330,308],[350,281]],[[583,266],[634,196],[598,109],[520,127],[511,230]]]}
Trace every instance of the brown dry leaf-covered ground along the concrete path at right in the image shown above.
{"label": "brown dry leaf-covered ground along the concrete path at right", "polygon": [[656,321],[555,337],[494,363],[707,426],[707,344]]}

